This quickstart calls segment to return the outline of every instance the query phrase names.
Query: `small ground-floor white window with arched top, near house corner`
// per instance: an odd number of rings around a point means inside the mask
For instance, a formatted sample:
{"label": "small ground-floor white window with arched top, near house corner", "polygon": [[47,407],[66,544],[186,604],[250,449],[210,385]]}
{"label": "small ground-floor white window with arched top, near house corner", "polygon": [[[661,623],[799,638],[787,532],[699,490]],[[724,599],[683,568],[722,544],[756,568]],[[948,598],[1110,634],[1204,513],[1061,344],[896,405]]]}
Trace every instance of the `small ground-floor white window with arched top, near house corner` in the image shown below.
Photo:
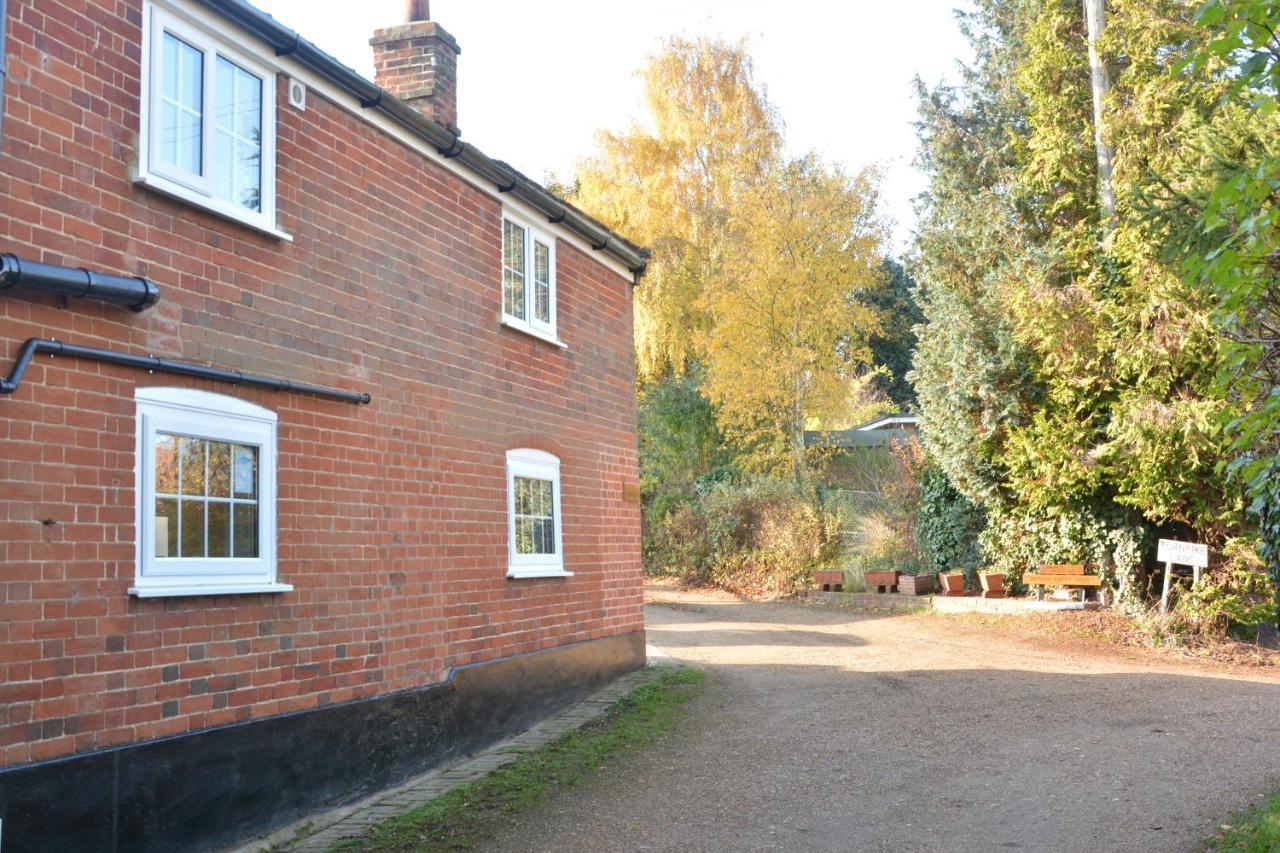
{"label": "small ground-floor white window with arched top, near house corner", "polygon": [[561,578],[564,548],[559,460],[545,451],[507,451],[508,578]]}

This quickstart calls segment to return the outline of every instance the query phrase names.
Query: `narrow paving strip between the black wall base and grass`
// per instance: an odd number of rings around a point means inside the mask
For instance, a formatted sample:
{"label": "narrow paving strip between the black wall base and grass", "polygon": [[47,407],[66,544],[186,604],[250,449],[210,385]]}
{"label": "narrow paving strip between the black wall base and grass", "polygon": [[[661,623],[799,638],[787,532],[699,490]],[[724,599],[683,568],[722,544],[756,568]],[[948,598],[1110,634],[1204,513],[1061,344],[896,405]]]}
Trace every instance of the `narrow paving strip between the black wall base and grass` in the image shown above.
{"label": "narrow paving strip between the black wall base and grass", "polygon": [[512,763],[521,754],[538,749],[567,731],[581,729],[588,722],[603,716],[632,690],[650,681],[654,669],[675,663],[675,660],[650,646],[649,661],[644,669],[614,679],[571,708],[543,720],[515,738],[495,743],[488,749],[451,765],[436,767],[398,788],[379,792],[358,803],[324,815],[314,815],[292,826],[276,830],[266,838],[234,848],[232,853],[262,853],[264,850],[324,853],[344,838],[361,835],[374,824],[412,811],[422,803],[449,793],[458,785],[477,781],[494,770]]}

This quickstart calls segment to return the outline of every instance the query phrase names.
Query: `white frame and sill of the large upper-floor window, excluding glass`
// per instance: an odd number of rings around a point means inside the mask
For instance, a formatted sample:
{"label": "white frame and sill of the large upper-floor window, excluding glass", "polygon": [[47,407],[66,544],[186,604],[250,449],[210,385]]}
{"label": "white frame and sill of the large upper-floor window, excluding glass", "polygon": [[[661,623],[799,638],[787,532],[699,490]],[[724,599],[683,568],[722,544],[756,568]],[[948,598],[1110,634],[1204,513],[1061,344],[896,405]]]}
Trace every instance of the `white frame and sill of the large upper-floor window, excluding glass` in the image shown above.
{"label": "white frame and sill of the large upper-floor window, excluding glass", "polygon": [[[262,81],[262,187],[260,210],[250,210],[234,201],[219,199],[214,195],[212,177],[193,175],[180,169],[174,169],[159,160],[155,151],[155,141],[159,140],[156,123],[159,110],[155,109],[155,96],[159,87],[159,63],[164,54],[164,33],[172,32],[174,36],[189,42],[205,54],[204,61],[204,87],[205,99],[202,111],[202,140],[201,163],[209,167],[212,163],[212,128],[209,124],[211,109],[209,106],[212,81],[216,73],[216,56],[225,56],[232,63],[244,70],[257,76]],[[293,237],[276,224],[276,101],[279,100],[280,69],[275,63],[251,53],[251,47],[237,41],[232,29],[214,29],[198,18],[184,14],[177,4],[163,0],[148,0],[143,5],[142,14],[142,69],[141,92],[138,100],[138,160],[133,168],[133,183],[155,190],[178,201],[202,207],[225,219],[232,219],[253,231],[265,233],[284,242],[292,242]]]}

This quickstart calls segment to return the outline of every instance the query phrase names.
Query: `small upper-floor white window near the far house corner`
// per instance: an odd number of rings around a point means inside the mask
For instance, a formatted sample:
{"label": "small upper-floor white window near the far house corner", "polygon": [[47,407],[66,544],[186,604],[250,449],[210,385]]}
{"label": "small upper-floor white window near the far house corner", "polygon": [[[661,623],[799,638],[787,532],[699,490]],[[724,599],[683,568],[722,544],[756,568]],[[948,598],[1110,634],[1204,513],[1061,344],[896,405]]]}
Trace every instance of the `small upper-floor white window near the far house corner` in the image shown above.
{"label": "small upper-floor white window near the far house corner", "polygon": [[556,240],[509,213],[502,218],[502,321],[563,346],[556,334]]}

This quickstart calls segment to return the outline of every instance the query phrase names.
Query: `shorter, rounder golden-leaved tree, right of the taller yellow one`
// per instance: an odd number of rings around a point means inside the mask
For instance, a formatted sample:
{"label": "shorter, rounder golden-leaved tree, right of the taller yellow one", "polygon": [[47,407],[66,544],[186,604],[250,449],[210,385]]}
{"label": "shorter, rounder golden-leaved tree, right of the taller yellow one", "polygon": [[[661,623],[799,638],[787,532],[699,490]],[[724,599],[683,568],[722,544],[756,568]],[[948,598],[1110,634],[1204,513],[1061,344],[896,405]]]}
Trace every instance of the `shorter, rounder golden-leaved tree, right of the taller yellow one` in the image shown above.
{"label": "shorter, rounder golden-leaved tree, right of the taller yellow one", "polygon": [[806,156],[778,164],[735,205],[708,318],[707,389],[723,429],[767,470],[805,475],[805,419],[838,416],[870,361],[879,316],[859,298],[884,272],[877,174]]}

